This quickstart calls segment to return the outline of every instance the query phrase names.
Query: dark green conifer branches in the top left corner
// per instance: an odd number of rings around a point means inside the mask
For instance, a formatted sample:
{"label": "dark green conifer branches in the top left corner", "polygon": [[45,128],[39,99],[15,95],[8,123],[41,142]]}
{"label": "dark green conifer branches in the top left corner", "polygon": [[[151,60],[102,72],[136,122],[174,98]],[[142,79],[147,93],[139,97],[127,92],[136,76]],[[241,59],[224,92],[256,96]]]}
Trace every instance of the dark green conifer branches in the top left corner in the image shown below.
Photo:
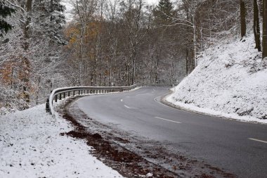
{"label": "dark green conifer branches in the top left corner", "polygon": [[0,1],[0,36],[12,29],[12,25],[7,23],[4,18],[11,13],[15,13],[15,9],[7,6],[4,1]]}

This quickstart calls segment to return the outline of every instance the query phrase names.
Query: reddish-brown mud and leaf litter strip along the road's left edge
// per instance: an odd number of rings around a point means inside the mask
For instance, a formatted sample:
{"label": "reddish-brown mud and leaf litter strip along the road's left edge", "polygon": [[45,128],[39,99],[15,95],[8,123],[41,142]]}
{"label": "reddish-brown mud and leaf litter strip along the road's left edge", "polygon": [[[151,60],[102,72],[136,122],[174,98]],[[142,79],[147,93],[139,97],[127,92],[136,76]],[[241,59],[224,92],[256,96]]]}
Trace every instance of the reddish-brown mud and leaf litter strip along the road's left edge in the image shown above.
{"label": "reddish-brown mud and leaf litter strip along the road's left edge", "polygon": [[149,173],[152,177],[162,178],[236,177],[202,160],[171,150],[169,143],[162,144],[124,132],[115,125],[103,125],[77,108],[74,103],[77,98],[68,98],[57,108],[58,113],[74,126],[74,130],[61,135],[86,140],[94,148],[93,155],[124,177],[145,177]]}

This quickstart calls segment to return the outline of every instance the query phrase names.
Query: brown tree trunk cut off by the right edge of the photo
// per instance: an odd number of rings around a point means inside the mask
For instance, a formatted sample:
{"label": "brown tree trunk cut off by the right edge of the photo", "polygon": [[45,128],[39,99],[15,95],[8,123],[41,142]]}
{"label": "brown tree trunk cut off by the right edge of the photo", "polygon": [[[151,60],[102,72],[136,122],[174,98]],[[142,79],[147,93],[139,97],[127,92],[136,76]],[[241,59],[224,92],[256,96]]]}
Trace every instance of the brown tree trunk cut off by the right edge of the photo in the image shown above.
{"label": "brown tree trunk cut off by the right edge of the photo", "polygon": [[267,0],[263,0],[262,58],[267,59]]}

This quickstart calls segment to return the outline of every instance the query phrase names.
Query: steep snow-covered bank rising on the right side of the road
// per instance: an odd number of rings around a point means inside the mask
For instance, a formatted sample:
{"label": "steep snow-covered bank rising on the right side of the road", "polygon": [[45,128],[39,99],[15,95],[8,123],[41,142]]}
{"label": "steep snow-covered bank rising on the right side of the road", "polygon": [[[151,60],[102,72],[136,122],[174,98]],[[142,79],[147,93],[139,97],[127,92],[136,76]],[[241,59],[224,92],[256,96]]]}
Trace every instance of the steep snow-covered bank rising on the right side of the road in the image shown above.
{"label": "steep snow-covered bank rising on the right side of the road", "polygon": [[254,36],[221,42],[198,58],[198,65],[167,97],[189,110],[267,123],[267,61],[254,49]]}

